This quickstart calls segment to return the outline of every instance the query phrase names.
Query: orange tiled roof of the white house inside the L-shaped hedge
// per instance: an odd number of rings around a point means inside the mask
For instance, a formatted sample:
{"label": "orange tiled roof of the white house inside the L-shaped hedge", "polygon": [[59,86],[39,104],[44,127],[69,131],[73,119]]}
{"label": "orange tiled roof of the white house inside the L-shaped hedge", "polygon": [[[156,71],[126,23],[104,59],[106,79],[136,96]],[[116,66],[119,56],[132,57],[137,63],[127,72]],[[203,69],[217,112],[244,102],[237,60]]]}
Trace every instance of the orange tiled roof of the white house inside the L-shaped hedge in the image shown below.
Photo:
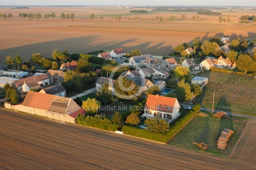
{"label": "orange tiled roof of the white house inside the L-shaped hedge", "polygon": [[145,108],[159,112],[172,113],[176,102],[176,98],[149,94]]}

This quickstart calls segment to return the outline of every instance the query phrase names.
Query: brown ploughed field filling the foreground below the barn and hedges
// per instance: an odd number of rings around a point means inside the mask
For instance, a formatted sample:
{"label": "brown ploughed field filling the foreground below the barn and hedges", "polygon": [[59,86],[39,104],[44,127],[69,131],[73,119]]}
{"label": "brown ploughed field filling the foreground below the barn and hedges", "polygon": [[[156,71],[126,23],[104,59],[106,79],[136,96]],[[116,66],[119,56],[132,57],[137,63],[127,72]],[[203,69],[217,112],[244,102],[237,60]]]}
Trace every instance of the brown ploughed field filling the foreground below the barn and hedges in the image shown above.
{"label": "brown ploughed field filling the foreground below the barn and hedges", "polygon": [[255,164],[0,108],[0,169],[255,169]]}

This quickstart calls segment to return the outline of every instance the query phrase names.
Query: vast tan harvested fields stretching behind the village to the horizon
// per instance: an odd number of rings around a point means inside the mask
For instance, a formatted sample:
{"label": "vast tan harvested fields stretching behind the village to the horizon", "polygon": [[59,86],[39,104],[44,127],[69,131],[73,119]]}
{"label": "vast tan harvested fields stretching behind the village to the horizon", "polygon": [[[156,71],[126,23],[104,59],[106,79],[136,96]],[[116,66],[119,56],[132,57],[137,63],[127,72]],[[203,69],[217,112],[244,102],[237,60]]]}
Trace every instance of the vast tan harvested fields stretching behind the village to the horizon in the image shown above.
{"label": "vast tan harvested fields stretching behind the village to the horizon", "polygon": [[[234,21],[230,24],[218,23],[218,16],[200,15],[195,22],[194,13],[169,13],[151,11],[148,14],[130,13],[130,9],[113,7],[31,7],[29,9],[1,8],[0,13],[12,13],[13,18],[0,20],[0,62],[4,63],[6,56],[20,54],[23,61],[32,57],[32,54],[41,53],[43,57],[51,57],[52,51],[67,49],[72,53],[88,53],[99,50],[123,48],[126,52],[137,48],[143,54],[167,55],[174,48],[184,42],[192,44],[195,37],[200,40],[209,40],[211,37],[255,38],[256,26],[254,23],[235,23],[243,15],[237,13],[223,13],[231,16]],[[251,15],[252,10],[244,10]],[[56,17],[44,18],[44,14],[55,12]],[[61,19],[61,13],[74,13],[72,21]],[[41,13],[40,20],[29,20],[18,17],[19,13]],[[89,15],[98,17],[93,21]],[[120,20],[111,19],[111,16],[121,15]],[[170,15],[175,15],[173,22],[166,21]],[[103,16],[103,20],[100,17]],[[163,22],[156,20],[156,16],[163,16]],[[128,20],[128,17],[131,20]],[[136,21],[134,17],[138,17]],[[145,20],[142,20],[144,18]],[[24,19],[24,20],[23,20]],[[215,23],[215,24],[213,24]]]}

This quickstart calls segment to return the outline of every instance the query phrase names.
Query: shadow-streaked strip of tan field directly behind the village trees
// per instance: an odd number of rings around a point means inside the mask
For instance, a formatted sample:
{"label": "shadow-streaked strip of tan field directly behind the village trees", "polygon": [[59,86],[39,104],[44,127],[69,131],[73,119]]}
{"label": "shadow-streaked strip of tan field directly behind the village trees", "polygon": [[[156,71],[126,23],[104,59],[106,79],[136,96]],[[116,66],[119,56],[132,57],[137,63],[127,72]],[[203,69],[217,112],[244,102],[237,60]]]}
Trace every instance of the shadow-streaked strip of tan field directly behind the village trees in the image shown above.
{"label": "shadow-streaked strip of tan field directly behind the village trees", "polygon": [[[134,34],[136,34],[136,30],[134,30]],[[114,32],[113,34],[105,33],[98,35],[88,35],[83,37],[39,42],[29,45],[20,45],[19,47],[3,49],[0,50],[0,62],[5,63],[6,56],[14,57],[17,54],[22,57],[23,62],[29,60],[35,53],[41,53],[44,58],[51,58],[52,51],[55,48],[57,48],[59,51],[64,51],[64,49],[67,49],[70,54],[86,54],[88,52],[116,48],[123,48],[125,52],[131,53],[131,51],[134,49],[140,49],[143,54],[152,55],[154,55],[154,51],[156,50],[161,51],[163,55],[167,55],[170,53],[170,49],[172,49],[172,45],[164,46],[164,43],[166,43],[164,41],[157,43],[153,40],[143,40],[143,37],[126,39],[126,37],[115,37],[113,35]],[[156,54],[159,54],[159,52]]]}

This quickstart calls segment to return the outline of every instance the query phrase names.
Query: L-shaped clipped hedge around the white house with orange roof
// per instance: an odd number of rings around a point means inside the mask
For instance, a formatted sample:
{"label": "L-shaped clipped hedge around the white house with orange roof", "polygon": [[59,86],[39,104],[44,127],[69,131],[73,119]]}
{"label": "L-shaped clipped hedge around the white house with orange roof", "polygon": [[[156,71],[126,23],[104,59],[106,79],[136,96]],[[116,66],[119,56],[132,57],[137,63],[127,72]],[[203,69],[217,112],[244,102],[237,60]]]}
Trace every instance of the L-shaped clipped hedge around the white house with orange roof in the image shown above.
{"label": "L-shaped clipped hedge around the white house with orange roof", "polygon": [[175,133],[177,133],[178,130],[180,130],[184,125],[186,125],[186,123],[189,122],[189,120],[200,111],[200,108],[200,105],[195,105],[192,108],[192,111],[189,111],[189,113],[187,113],[183,118],[175,122],[175,124],[172,125],[170,127],[170,130],[166,133],[154,133],[148,130],[131,126],[123,126],[122,131],[127,135],[149,139],[156,142],[166,143],[170,138],[172,138],[172,136],[175,135]]}

